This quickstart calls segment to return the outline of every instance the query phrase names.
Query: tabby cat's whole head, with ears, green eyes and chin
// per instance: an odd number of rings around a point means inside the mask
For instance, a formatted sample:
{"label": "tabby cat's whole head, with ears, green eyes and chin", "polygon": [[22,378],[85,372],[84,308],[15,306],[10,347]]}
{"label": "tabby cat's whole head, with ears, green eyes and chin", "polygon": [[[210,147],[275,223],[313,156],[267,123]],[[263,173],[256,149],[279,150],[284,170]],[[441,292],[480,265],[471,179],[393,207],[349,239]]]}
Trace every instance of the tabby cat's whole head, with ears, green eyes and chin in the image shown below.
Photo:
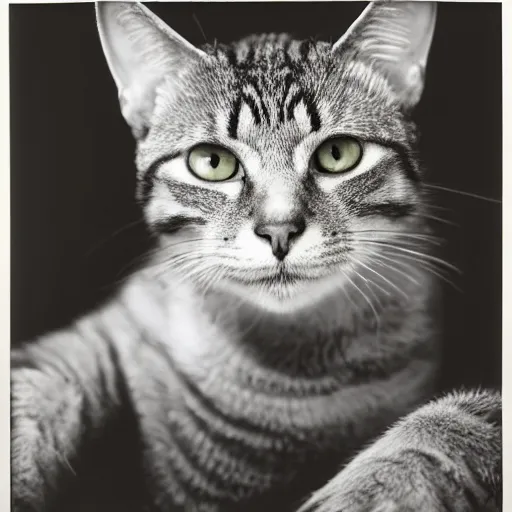
{"label": "tabby cat's whole head, with ears, green eyes and chin", "polygon": [[196,48],[141,4],[98,3],[138,197],[173,271],[269,309],[376,276],[389,288],[424,227],[410,113],[435,15],[372,3],[334,45]]}

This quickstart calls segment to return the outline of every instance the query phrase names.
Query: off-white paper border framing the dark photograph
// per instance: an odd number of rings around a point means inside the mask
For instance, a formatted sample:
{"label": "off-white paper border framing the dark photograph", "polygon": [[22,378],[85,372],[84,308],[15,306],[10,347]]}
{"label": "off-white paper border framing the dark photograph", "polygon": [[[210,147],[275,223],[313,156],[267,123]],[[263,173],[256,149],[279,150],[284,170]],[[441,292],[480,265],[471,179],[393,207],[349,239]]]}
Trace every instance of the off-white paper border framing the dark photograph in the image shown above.
{"label": "off-white paper border framing the dark photograph", "polygon": [[[87,0],[74,0],[86,3]],[[223,0],[213,0],[223,1]],[[243,0],[249,1],[249,0]],[[257,0],[262,1],[262,0]],[[264,1],[264,0],[263,0]],[[287,1],[287,0],[281,0]],[[309,1],[309,0],[301,0]],[[347,1],[347,0],[345,0]],[[477,2],[478,0],[469,0]],[[16,3],[64,3],[60,0],[38,2],[21,0]],[[478,2],[487,3],[487,2]],[[489,2],[491,3],[491,2]],[[492,2],[500,3],[500,2]],[[512,362],[512,268],[506,265],[511,259],[512,242],[512,0],[504,0],[503,33],[503,400],[512,401],[512,375],[508,366]],[[461,20],[462,21],[462,20]],[[10,510],[10,394],[9,394],[9,346],[10,346],[10,157],[9,157],[9,3],[0,1],[0,464],[4,475],[0,479],[0,510]],[[480,98],[485,101],[485,98]],[[508,145],[507,145],[508,141]],[[483,297],[482,300],[485,300]],[[485,343],[485,340],[482,340]],[[512,412],[508,405],[503,414],[504,425],[504,484],[503,510],[512,511]],[[507,482],[508,485],[505,483]]]}

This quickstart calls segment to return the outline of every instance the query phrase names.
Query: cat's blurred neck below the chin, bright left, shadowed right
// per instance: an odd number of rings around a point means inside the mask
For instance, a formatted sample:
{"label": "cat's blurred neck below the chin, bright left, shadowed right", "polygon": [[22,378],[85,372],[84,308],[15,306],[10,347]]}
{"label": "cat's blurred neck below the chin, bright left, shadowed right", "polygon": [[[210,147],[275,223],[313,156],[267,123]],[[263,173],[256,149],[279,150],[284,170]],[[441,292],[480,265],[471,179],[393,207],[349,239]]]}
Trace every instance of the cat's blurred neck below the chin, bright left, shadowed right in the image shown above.
{"label": "cat's blurred neck below the chin, bright left, shadowed right", "polygon": [[342,290],[283,313],[226,289],[204,292],[176,275],[143,277],[145,290],[151,287],[157,296],[154,309],[161,311],[155,338],[193,380],[217,374],[248,388],[301,395],[306,383],[332,387],[350,354],[371,350],[378,357],[389,342],[385,333],[396,330],[407,311],[412,315],[425,294],[405,287],[401,296]]}

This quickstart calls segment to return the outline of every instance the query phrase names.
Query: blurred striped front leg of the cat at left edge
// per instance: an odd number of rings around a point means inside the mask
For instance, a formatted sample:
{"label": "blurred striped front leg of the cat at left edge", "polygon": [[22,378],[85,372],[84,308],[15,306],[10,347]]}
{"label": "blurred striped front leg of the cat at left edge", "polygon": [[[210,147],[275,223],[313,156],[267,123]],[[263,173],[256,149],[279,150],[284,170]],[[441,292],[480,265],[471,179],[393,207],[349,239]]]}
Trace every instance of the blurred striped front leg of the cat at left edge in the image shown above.
{"label": "blurred striped front leg of the cat at left edge", "polygon": [[116,410],[105,340],[70,329],[11,354],[12,510],[53,510]]}

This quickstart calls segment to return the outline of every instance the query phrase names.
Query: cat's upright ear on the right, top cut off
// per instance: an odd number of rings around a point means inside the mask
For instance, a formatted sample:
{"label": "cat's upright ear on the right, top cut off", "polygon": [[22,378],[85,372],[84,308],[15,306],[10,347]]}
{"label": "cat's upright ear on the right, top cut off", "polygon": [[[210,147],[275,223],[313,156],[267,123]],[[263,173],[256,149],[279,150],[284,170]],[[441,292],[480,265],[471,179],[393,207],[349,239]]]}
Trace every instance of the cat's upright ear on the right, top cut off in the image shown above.
{"label": "cat's upright ear on the right, top cut off", "polygon": [[356,51],[389,79],[406,107],[418,103],[436,21],[435,2],[374,2],[333,52]]}

